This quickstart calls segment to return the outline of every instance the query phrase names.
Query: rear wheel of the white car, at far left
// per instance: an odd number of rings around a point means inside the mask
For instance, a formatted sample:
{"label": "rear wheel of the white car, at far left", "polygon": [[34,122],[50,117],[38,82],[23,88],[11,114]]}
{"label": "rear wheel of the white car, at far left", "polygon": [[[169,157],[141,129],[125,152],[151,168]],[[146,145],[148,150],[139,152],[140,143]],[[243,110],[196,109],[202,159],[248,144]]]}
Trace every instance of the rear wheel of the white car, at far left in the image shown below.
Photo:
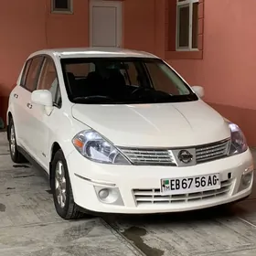
{"label": "rear wheel of the white car, at far left", "polygon": [[15,124],[13,119],[10,119],[9,122],[9,149],[10,149],[10,155],[14,163],[16,164],[22,164],[26,163],[26,158],[18,151],[17,145],[16,145],[16,130],[15,130]]}

